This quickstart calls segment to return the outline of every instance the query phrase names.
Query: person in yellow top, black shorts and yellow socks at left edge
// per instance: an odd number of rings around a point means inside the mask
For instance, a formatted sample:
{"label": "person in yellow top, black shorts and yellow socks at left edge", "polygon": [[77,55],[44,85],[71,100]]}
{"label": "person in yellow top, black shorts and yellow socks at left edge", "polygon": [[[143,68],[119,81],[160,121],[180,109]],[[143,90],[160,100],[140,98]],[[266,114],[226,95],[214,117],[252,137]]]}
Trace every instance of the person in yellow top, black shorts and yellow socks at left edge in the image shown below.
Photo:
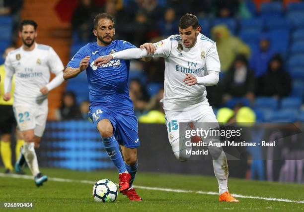
{"label": "person in yellow top, black shorts and yellow socks at left edge", "polygon": [[[8,47],[5,49],[5,52],[3,53],[3,57],[5,58],[6,55],[15,50],[13,47]],[[4,71],[4,64],[0,65],[0,154],[1,159],[5,167],[5,173],[12,173],[13,166],[11,162],[11,132],[16,127],[16,120],[12,108],[13,104],[13,98],[11,98],[9,101],[5,102],[3,100],[4,95],[4,88],[3,88],[3,81],[5,77],[5,71]],[[12,89],[11,89],[11,96],[13,96],[14,93],[14,79],[12,83]],[[17,135],[17,143],[15,147],[15,156],[16,159],[20,156],[20,148],[23,145],[23,138],[20,131],[16,130]]]}

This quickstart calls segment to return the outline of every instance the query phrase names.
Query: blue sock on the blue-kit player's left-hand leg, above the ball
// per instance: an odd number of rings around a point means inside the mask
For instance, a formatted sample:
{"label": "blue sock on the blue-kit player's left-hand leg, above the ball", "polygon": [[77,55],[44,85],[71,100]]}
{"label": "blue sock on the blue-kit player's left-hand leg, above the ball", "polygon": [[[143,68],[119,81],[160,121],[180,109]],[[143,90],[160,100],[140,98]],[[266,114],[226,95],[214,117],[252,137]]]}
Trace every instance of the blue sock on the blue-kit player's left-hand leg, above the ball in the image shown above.
{"label": "blue sock on the blue-kit player's left-hand leg, above the ball", "polygon": [[102,142],[104,145],[104,149],[107,152],[110,159],[113,161],[119,173],[123,173],[127,171],[124,160],[122,159],[121,153],[119,151],[119,144],[114,138],[111,136],[109,138],[102,138]]}

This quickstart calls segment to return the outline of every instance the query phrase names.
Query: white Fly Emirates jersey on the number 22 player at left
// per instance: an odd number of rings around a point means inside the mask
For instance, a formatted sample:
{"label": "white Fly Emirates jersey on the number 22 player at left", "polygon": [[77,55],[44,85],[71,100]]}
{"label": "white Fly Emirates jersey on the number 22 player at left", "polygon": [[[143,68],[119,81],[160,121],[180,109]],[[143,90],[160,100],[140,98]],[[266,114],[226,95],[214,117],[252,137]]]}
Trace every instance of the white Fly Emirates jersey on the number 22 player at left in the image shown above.
{"label": "white Fly Emirates jersey on the number 22 player at left", "polygon": [[5,59],[6,73],[15,74],[14,105],[32,105],[47,99],[40,89],[49,83],[50,71],[56,74],[64,69],[52,47],[34,45],[32,51],[24,51],[21,46],[10,52]]}

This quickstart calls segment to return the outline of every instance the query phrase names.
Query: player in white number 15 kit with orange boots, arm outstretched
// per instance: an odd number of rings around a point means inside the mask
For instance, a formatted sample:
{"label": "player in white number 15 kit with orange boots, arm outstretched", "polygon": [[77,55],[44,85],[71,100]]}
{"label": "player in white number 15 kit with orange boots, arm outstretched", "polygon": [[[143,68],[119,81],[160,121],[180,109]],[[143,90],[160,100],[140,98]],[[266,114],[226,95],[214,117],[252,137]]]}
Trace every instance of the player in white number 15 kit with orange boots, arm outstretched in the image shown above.
{"label": "player in white number 15 kit with orange boots, arm outstretched", "polygon": [[[211,123],[218,127],[206,98],[206,86],[218,83],[221,64],[216,43],[200,31],[198,18],[187,13],[179,21],[179,35],[172,35],[155,44],[146,43],[141,46],[142,49],[124,50],[95,60],[95,65],[99,66],[114,58],[135,59],[149,53],[165,58],[163,108],[169,142],[175,157],[181,161],[189,159],[190,155],[186,155],[180,147],[179,123]],[[238,202],[228,192],[228,165],[223,149],[209,147],[209,150],[219,183],[219,201]]]}

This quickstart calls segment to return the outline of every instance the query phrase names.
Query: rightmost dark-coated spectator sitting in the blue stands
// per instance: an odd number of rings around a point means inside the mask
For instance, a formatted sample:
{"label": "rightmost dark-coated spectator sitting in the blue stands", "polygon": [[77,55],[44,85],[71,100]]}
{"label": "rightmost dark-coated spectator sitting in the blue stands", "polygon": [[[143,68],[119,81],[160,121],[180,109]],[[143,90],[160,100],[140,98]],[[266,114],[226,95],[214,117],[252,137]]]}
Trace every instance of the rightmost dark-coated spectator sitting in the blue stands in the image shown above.
{"label": "rightmost dark-coated spectator sitting in the blue stands", "polygon": [[274,55],[268,64],[268,71],[259,78],[258,95],[281,98],[292,91],[292,79],[284,70],[283,59],[279,54]]}

